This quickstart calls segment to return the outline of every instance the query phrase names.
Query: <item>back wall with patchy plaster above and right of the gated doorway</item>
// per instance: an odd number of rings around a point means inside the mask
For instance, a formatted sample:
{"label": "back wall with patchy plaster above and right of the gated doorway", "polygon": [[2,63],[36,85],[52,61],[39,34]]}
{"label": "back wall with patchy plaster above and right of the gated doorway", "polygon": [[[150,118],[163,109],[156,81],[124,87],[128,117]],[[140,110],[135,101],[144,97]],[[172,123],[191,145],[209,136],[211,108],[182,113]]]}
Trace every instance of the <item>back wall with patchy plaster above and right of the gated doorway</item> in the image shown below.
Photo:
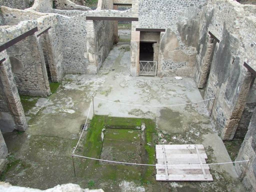
{"label": "back wall with patchy plaster above and right of the gated doorway", "polygon": [[[134,3],[133,9],[136,9]],[[166,29],[160,42],[158,75],[193,76],[199,35],[198,13],[205,3],[193,0],[139,1],[139,21],[133,30]]]}

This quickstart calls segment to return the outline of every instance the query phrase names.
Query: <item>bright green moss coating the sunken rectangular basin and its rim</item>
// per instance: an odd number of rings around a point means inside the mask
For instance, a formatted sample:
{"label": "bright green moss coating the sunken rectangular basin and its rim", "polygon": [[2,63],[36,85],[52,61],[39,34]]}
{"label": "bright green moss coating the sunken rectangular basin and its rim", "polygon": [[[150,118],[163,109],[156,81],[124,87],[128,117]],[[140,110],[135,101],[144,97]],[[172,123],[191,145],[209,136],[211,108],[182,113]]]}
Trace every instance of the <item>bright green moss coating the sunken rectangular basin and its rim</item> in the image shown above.
{"label": "bright green moss coating the sunken rectangular basin and its rim", "polygon": [[[141,143],[141,151],[139,153],[142,158],[143,164],[155,164],[155,121],[150,119],[137,119],[137,118],[119,118],[119,117],[109,117],[94,115],[86,135],[86,142],[83,146],[83,151],[81,154],[93,158],[101,158],[103,143],[104,146],[110,146],[111,141],[115,144],[120,145],[120,148],[117,153],[127,152],[127,150],[134,149],[134,147],[124,147],[125,143],[122,145],[122,140],[124,142],[138,142],[140,143],[141,139],[138,140],[139,133],[142,134],[141,130],[136,129],[137,126],[141,126],[142,123],[145,123],[146,129],[145,133],[145,142]],[[106,132],[110,131],[104,141],[101,141],[101,132],[102,129],[106,128]],[[115,130],[118,129],[118,130]],[[129,129],[129,130],[127,130]],[[136,131],[135,131],[136,130]],[[109,134],[113,135],[109,135]],[[141,137],[141,136],[139,136]],[[106,139],[106,140],[105,140]],[[105,143],[106,142],[106,143]],[[113,145],[114,145],[113,143]],[[134,144],[134,143],[133,143]],[[126,145],[125,145],[126,146]],[[80,148],[78,147],[78,149]],[[114,146],[113,146],[114,147]],[[128,149],[129,148],[129,149]],[[130,152],[130,151],[129,151]],[[127,152],[127,153],[129,153]],[[145,154],[145,155],[143,155]],[[136,154],[134,154],[136,155]],[[108,160],[114,160],[113,157],[109,157]],[[132,158],[128,158],[129,162],[135,162]],[[80,170],[84,170],[79,173],[79,176],[84,178],[87,182],[93,180],[95,185],[90,188],[97,188],[100,182],[116,182],[116,181],[135,181],[141,182],[142,185],[147,183],[155,182],[155,167],[154,166],[131,166],[123,164],[109,164],[105,162],[94,161],[90,159],[80,159],[81,163],[79,165]],[[90,180],[87,178],[87,174],[90,173]],[[88,179],[88,180],[86,180]]]}

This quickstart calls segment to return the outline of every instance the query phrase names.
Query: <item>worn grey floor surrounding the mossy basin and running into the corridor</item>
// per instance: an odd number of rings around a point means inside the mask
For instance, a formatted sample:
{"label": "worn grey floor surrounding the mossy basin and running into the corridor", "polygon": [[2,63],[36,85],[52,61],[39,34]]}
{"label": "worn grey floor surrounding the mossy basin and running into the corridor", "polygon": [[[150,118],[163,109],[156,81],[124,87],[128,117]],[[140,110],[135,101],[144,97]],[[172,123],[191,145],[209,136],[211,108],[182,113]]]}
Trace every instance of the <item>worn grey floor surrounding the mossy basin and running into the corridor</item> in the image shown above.
{"label": "worn grey floor surrounding the mossy basin and running into the corridor", "polygon": [[[206,110],[207,103],[154,108],[119,104],[160,106],[203,100],[193,78],[132,77],[129,70],[129,45],[115,45],[97,75],[66,75],[56,93],[38,99],[26,113],[28,130],[4,134],[9,159],[15,159],[17,164],[5,174],[4,180],[40,189],[64,183],[81,184],[73,176],[71,153],[93,95],[115,101],[95,98],[96,114],[155,119],[157,144],[204,144],[208,163],[231,161]],[[141,186],[138,181],[120,181],[104,185],[98,182],[94,187],[108,191],[244,191],[232,164],[210,168],[214,182],[159,182]]]}

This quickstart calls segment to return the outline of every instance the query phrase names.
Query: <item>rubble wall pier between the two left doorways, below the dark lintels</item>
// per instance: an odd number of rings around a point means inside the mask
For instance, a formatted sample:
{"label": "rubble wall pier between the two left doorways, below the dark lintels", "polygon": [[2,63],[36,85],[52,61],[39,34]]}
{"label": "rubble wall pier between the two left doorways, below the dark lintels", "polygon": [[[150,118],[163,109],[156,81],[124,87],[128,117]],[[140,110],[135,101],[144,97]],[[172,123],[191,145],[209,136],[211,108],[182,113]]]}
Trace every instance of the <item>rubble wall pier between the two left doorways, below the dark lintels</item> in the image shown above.
{"label": "rubble wall pier between the two left doorways, below the dark lintels", "polygon": [[20,94],[31,96],[50,94],[43,52],[35,35],[9,47],[7,54]]}

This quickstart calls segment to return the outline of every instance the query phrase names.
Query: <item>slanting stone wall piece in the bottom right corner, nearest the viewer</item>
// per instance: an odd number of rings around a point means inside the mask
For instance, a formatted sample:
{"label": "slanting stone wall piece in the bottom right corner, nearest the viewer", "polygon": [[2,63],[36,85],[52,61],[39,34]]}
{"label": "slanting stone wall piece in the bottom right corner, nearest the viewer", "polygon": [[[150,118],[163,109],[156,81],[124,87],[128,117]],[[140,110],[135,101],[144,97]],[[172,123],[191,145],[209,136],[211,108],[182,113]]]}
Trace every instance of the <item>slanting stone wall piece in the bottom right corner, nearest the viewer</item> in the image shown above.
{"label": "slanting stone wall piece in the bottom right corner, nearest the viewer", "polygon": [[248,159],[250,159],[248,166],[247,162],[236,163],[235,169],[247,191],[256,191],[256,108],[252,114],[248,132],[241,145],[236,161]]}

